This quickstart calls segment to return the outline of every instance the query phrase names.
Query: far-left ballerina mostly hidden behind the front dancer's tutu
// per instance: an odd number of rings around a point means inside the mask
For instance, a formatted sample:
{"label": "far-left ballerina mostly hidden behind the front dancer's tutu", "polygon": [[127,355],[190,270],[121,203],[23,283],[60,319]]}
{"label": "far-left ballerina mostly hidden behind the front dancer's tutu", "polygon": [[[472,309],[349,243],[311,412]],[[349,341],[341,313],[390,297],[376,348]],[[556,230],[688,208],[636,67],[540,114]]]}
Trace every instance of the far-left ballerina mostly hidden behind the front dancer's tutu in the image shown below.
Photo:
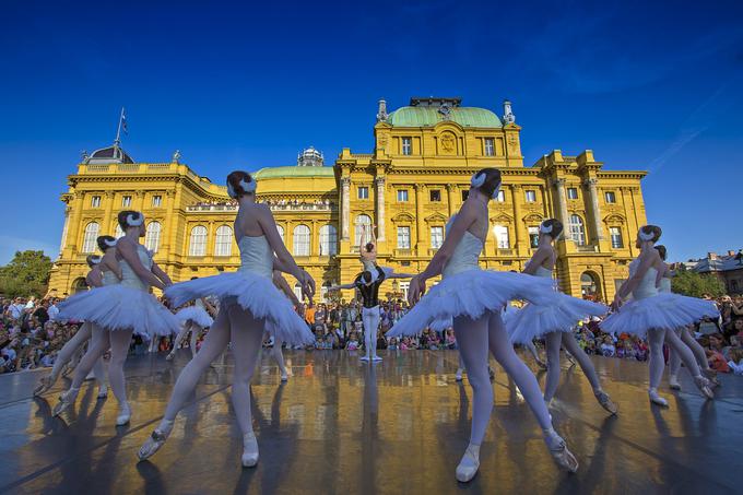
{"label": "far-left ballerina mostly hidden behind the front dancer's tutu", "polygon": [[[101,236],[97,238],[98,248],[104,256],[89,256],[86,258],[87,266],[91,271],[85,276],[85,282],[89,287],[96,288],[104,285],[117,284],[121,280],[121,268],[116,260],[116,239],[111,236]],[[40,396],[49,390],[57,382],[60,373],[64,365],[71,364],[73,356],[82,351],[83,345],[91,341],[93,337],[93,325],[83,323],[75,334],[70,339],[57,354],[55,364],[51,367],[51,373],[39,380],[38,387],[34,390],[34,396]],[[101,333],[96,333],[96,340]],[[89,345],[92,345],[92,341]],[[78,364],[78,363],[75,363]],[[68,366],[69,367],[69,366]],[[98,399],[108,397],[108,387],[106,387],[106,370],[103,364],[103,356],[98,357],[93,366],[93,374],[98,382]]]}

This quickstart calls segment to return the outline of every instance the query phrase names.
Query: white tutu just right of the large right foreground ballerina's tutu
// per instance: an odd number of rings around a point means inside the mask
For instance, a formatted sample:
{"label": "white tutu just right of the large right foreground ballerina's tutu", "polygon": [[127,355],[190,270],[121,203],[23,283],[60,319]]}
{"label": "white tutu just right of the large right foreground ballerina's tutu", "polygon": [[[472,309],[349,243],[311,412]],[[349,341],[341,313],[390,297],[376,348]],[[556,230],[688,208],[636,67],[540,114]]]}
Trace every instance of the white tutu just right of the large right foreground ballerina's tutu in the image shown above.
{"label": "white tutu just right of the large right foreground ballerina's tutu", "polygon": [[603,304],[570,297],[558,293],[555,302],[541,306],[527,304],[507,318],[506,329],[511,342],[526,344],[552,332],[570,332],[587,316],[605,315]]}

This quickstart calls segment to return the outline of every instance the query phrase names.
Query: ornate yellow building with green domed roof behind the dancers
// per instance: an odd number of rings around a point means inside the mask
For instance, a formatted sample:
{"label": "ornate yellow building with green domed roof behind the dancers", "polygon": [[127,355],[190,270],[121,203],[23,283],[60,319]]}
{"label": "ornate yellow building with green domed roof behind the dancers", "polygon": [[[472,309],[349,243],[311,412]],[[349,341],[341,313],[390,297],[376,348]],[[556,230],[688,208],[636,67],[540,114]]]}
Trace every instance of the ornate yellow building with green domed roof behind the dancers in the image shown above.
{"label": "ornate yellow building with green domed roof behind the dancers", "polygon": [[[460,98],[411,98],[389,114],[380,101],[371,153],[343,149],[330,167],[320,152],[305,150],[296,166],[255,174],[258,200],[271,205],[298,263],[327,287],[359,271],[362,225],[378,227],[380,263],[422,270],[464,200],[472,173],[495,166],[504,180],[500,197],[491,202],[493,235],[482,266],[521,270],[540,222],[557,217],[565,224],[557,243],[562,288],[611,300],[637,255],[635,234],[646,223],[640,189],[646,173],[605,170],[590,150],[577,156],[554,150],[524,167],[520,132],[509,102],[498,117],[463,107]],[[224,175],[235,168],[249,167],[225,166]],[[193,173],[178,152],[169,163],[140,163],[115,143],[84,155],[61,198],[64,228],[50,292],[61,296],[84,287],[85,256],[98,235],[117,232],[122,209],[144,212],[145,245],[174,281],[236,269],[236,207],[222,184]],[[384,292],[405,287],[390,284]]]}

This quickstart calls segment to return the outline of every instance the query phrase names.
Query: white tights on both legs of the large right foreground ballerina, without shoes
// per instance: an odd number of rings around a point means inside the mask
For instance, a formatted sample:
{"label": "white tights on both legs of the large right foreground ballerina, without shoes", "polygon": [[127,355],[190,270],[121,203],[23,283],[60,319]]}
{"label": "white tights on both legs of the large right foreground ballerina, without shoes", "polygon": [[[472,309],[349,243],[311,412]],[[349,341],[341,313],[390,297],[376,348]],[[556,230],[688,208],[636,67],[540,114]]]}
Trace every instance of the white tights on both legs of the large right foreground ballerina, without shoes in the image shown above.
{"label": "white tights on both legs of the large right foreground ballerina, without shoes", "polygon": [[459,353],[467,367],[472,387],[472,428],[470,444],[481,445],[493,411],[493,386],[487,373],[488,350],[506,373],[514,379],[543,431],[552,429],[552,421],[536,378],[519,360],[498,313],[488,313],[472,320],[467,316],[455,318],[455,335]]}

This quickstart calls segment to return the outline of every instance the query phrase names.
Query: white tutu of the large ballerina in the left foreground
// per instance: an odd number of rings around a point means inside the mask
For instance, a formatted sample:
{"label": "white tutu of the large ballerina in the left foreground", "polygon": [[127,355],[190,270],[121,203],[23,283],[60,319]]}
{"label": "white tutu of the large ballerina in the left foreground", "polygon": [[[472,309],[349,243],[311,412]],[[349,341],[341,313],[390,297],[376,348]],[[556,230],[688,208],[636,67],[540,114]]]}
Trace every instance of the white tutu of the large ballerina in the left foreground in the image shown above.
{"label": "white tutu of the large ballerina in the left foreground", "polygon": [[220,298],[221,310],[234,298],[253,318],[266,319],[266,330],[274,338],[291,344],[315,343],[315,335],[307,323],[299,318],[292,303],[279,292],[271,279],[247,270],[170,285],[165,290],[165,295],[176,306],[214,295]]}

